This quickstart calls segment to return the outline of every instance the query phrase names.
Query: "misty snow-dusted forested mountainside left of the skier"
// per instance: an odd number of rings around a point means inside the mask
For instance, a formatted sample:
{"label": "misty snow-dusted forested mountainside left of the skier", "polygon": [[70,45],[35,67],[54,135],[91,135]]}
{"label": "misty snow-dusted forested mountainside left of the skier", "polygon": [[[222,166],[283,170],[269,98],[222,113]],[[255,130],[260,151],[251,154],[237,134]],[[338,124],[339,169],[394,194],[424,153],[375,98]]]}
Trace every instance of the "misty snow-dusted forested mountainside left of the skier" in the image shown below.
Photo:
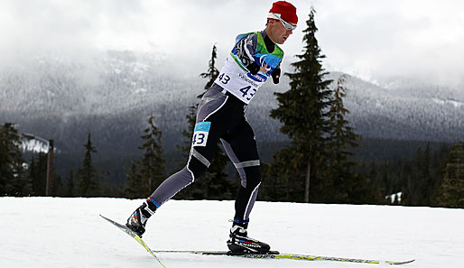
{"label": "misty snow-dusted forested mountainside left of the skier", "polygon": [[14,122],[21,132],[55,139],[64,151],[81,147],[89,132],[98,145],[136,143],[151,114],[170,137],[171,130],[183,127],[203,81],[168,76],[161,60],[150,54],[107,51],[91,60],[42,57],[3,69],[0,122]]}

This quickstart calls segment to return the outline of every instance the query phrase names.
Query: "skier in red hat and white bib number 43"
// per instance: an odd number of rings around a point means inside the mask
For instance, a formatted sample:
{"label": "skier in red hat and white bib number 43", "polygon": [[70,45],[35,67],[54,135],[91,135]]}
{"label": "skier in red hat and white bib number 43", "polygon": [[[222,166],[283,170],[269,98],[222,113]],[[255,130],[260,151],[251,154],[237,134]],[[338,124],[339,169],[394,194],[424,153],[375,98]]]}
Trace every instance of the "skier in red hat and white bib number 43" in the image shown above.
{"label": "skier in red hat and white bib number 43", "polygon": [[227,246],[234,253],[267,253],[270,246],[247,236],[249,215],[261,183],[255,134],[245,109],[256,91],[272,77],[279,83],[283,44],[296,28],[296,8],[275,2],[267,15],[264,31],[237,36],[236,45],[211,88],[200,100],[196,125],[185,168],[172,174],[154,190],[142,206],[127,219],[126,226],[139,236],[149,217],[181,189],[207,171],[220,140],[241,178],[235,202],[235,217]]}

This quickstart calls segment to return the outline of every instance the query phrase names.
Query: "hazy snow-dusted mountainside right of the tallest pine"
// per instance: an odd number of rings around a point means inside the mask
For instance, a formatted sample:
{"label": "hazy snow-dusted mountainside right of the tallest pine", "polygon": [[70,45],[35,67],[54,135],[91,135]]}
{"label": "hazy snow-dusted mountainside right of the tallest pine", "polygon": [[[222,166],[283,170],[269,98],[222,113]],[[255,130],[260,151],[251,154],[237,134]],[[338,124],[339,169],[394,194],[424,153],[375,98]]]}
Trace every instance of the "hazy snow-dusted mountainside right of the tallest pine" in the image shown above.
{"label": "hazy snow-dusted mountainside right of the tallest pine", "polygon": [[[330,74],[334,79],[339,73]],[[349,121],[370,137],[447,141],[464,138],[464,87],[443,88],[414,81],[385,87],[349,78]]]}

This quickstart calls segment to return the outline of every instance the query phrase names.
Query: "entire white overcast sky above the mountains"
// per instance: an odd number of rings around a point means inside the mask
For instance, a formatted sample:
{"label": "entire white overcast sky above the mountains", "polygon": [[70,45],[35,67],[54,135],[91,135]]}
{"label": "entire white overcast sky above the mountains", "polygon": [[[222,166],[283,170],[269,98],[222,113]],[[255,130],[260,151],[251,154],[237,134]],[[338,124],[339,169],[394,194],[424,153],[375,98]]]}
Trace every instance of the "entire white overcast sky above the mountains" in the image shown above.
{"label": "entire white overcast sky above the mountains", "polygon": [[[42,51],[161,52],[198,74],[218,46],[218,67],[237,33],[264,29],[265,0],[0,0],[3,64]],[[293,0],[299,25],[284,62],[302,51],[311,5],[327,70],[378,81],[413,78],[464,85],[464,1]],[[284,65],[285,66],[285,65]],[[288,70],[288,69],[287,69]],[[285,70],[284,70],[285,71]]]}

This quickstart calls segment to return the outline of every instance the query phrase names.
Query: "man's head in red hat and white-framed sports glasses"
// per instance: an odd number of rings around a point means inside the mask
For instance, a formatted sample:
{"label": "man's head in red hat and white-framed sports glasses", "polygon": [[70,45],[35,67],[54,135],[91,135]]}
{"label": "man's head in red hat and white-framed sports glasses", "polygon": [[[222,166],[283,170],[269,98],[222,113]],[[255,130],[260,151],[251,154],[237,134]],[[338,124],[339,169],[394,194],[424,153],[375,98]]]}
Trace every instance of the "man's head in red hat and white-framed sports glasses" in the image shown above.
{"label": "man's head in red hat and white-framed sports glasses", "polygon": [[298,23],[296,7],[285,1],[278,1],[267,14],[266,33],[272,42],[283,44]]}

